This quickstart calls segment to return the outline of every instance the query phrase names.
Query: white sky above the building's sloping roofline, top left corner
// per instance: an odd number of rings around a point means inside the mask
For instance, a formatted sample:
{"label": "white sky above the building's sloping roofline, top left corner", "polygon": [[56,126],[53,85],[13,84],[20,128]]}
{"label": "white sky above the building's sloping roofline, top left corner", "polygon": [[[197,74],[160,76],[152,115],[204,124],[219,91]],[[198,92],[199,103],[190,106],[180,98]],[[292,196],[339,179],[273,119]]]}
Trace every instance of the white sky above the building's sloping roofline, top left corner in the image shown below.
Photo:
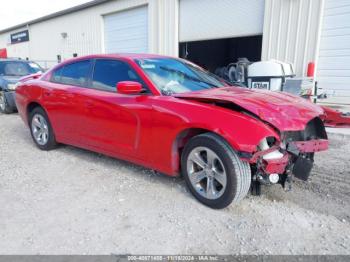
{"label": "white sky above the building's sloping roofline, top left corner", "polygon": [[91,0],[1,0],[0,30]]}

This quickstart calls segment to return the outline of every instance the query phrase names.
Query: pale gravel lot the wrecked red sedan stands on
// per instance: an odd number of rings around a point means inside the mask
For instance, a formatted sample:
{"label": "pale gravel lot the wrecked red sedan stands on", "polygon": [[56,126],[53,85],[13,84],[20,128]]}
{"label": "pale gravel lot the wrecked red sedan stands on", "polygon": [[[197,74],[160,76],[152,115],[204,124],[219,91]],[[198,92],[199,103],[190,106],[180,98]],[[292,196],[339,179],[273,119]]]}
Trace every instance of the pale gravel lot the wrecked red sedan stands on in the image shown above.
{"label": "pale gravel lot the wrecked red sedan stands on", "polygon": [[70,146],[42,152],[18,115],[0,115],[0,253],[350,254],[350,138],[330,141],[310,182],[217,211],[181,178]]}

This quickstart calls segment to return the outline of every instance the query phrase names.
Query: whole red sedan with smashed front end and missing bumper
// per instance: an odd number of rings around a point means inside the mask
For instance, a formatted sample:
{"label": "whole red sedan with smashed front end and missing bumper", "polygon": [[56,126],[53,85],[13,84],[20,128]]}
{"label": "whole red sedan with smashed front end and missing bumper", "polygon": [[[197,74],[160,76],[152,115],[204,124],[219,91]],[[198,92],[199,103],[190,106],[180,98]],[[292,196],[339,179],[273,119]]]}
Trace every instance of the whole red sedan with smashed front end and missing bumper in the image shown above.
{"label": "whole red sedan with smashed front end and missing bumper", "polygon": [[326,150],[323,110],[292,95],[229,86],[182,59],[93,55],[22,79],[20,116],[36,145],[69,144],[182,174],[213,208],[261,184],[306,180]]}

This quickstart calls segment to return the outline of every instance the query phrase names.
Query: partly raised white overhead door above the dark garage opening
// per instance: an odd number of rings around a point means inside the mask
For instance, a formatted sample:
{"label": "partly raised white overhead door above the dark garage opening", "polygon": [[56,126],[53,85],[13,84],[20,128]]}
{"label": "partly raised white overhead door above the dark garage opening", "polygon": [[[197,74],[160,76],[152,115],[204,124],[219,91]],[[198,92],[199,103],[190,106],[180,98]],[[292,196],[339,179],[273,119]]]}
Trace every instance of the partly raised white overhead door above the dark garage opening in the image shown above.
{"label": "partly raised white overhead door above the dark garage opening", "polygon": [[264,0],[180,0],[180,42],[261,35]]}

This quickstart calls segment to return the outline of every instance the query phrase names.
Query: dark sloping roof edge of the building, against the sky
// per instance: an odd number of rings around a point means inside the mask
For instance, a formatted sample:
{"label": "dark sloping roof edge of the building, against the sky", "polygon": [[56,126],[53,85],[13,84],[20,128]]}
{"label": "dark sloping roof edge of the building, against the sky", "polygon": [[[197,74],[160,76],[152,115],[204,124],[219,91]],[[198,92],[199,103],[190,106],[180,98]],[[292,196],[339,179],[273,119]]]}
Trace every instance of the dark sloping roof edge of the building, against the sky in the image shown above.
{"label": "dark sloping roof edge of the building, against the sky", "polygon": [[15,25],[15,26],[11,26],[11,27],[2,29],[2,30],[0,30],[0,34],[6,33],[6,32],[9,32],[9,31],[13,31],[13,30],[16,30],[16,29],[20,29],[20,28],[28,26],[28,25],[40,23],[40,22],[43,22],[43,21],[46,21],[46,20],[49,20],[49,19],[52,19],[52,18],[59,17],[59,16],[67,15],[67,14],[70,14],[70,13],[74,13],[74,12],[77,12],[77,11],[80,11],[80,10],[83,10],[83,9],[86,9],[86,8],[89,8],[89,7],[93,7],[95,5],[103,4],[103,3],[109,2],[109,1],[111,1],[111,0],[93,0],[93,1],[81,4],[81,5],[73,6],[73,7],[70,7],[70,8],[67,8],[67,9],[64,9],[64,10],[61,10],[61,11],[58,11],[58,12],[46,15],[46,16],[42,16],[42,17],[30,20],[30,21],[25,22],[25,23],[21,23],[21,24]]}

